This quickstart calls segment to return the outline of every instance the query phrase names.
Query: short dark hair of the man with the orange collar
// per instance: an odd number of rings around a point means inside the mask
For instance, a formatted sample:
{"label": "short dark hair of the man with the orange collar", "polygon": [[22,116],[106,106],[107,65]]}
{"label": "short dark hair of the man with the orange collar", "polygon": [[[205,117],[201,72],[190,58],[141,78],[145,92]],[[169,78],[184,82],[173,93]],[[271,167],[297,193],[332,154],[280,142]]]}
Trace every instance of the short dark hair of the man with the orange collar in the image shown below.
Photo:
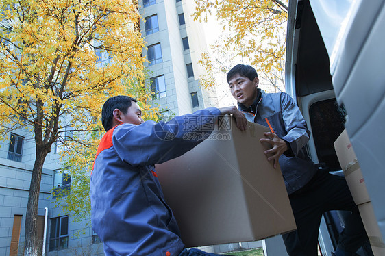
{"label": "short dark hair of the man with the orange collar", "polygon": [[136,99],[125,95],[111,97],[105,101],[101,109],[101,123],[103,124],[105,131],[112,128],[114,109],[117,108],[123,112],[123,114],[126,114],[128,108],[132,105],[132,101],[136,102]]}

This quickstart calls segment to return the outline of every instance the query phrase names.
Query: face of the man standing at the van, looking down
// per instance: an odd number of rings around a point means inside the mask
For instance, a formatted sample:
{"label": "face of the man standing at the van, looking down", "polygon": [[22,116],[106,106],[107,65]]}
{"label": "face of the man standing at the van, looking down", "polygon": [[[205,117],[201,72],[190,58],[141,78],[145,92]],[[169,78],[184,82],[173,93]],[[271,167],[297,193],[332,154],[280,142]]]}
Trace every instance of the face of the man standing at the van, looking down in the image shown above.
{"label": "face of the man standing at the van, looking down", "polygon": [[250,107],[257,97],[258,77],[250,81],[249,78],[236,74],[229,79],[229,87],[233,97],[239,102]]}

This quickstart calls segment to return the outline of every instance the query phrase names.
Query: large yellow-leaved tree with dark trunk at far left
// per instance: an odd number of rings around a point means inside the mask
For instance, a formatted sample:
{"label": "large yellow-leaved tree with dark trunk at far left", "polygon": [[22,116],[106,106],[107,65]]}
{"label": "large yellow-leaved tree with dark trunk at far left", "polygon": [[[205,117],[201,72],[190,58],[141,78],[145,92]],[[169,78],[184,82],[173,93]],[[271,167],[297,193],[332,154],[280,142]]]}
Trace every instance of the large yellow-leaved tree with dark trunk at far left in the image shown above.
{"label": "large yellow-leaved tree with dark trunk at far left", "polygon": [[[78,143],[74,149],[95,146],[97,136],[68,134],[99,131],[108,97],[133,90],[146,99],[144,40],[135,0],[0,0],[0,5],[0,133],[5,139],[14,129],[28,129],[36,145],[25,255],[37,255],[47,154],[57,140]],[[85,151],[77,151],[79,157]]]}

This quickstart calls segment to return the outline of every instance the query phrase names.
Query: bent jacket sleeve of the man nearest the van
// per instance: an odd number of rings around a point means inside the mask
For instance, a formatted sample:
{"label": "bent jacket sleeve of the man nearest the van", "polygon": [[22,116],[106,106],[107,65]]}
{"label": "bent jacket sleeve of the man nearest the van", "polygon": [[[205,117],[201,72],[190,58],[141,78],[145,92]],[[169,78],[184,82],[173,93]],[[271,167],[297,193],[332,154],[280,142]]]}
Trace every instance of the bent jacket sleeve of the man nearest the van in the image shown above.
{"label": "bent jacket sleeve of the man nearest the van", "polygon": [[290,144],[290,149],[297,157],[299,151],[308,143],[310,131],[299,111],[299,107],[286,93],[281,94],[281,107],[282,118],[287,132],[286,136],[282,137],[282,140],[286,140]]}

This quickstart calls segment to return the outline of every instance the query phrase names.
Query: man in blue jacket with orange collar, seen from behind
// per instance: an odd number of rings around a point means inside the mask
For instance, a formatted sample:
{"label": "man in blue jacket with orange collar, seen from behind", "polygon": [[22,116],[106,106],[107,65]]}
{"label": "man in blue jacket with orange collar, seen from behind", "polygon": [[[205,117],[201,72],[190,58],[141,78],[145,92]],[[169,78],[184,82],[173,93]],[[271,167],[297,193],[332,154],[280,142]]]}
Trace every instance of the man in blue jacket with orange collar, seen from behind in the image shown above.
{"label": "man in blue jacket with orange collar, seen from behind", "polygon": [[140,107],[131,97],[116,96],[104,103],[102,123],[107,133],[92,168],[91,208],[92,229],[103,241],[105,255],[214,255],[186,250],[154,164],[199,144],[202,140],[186,140],[184,134],[210,134],[221,114],[232,114],[237,127],[246,129],[247,120],[236,107],[210,107],[155,123],[142,120]]}

